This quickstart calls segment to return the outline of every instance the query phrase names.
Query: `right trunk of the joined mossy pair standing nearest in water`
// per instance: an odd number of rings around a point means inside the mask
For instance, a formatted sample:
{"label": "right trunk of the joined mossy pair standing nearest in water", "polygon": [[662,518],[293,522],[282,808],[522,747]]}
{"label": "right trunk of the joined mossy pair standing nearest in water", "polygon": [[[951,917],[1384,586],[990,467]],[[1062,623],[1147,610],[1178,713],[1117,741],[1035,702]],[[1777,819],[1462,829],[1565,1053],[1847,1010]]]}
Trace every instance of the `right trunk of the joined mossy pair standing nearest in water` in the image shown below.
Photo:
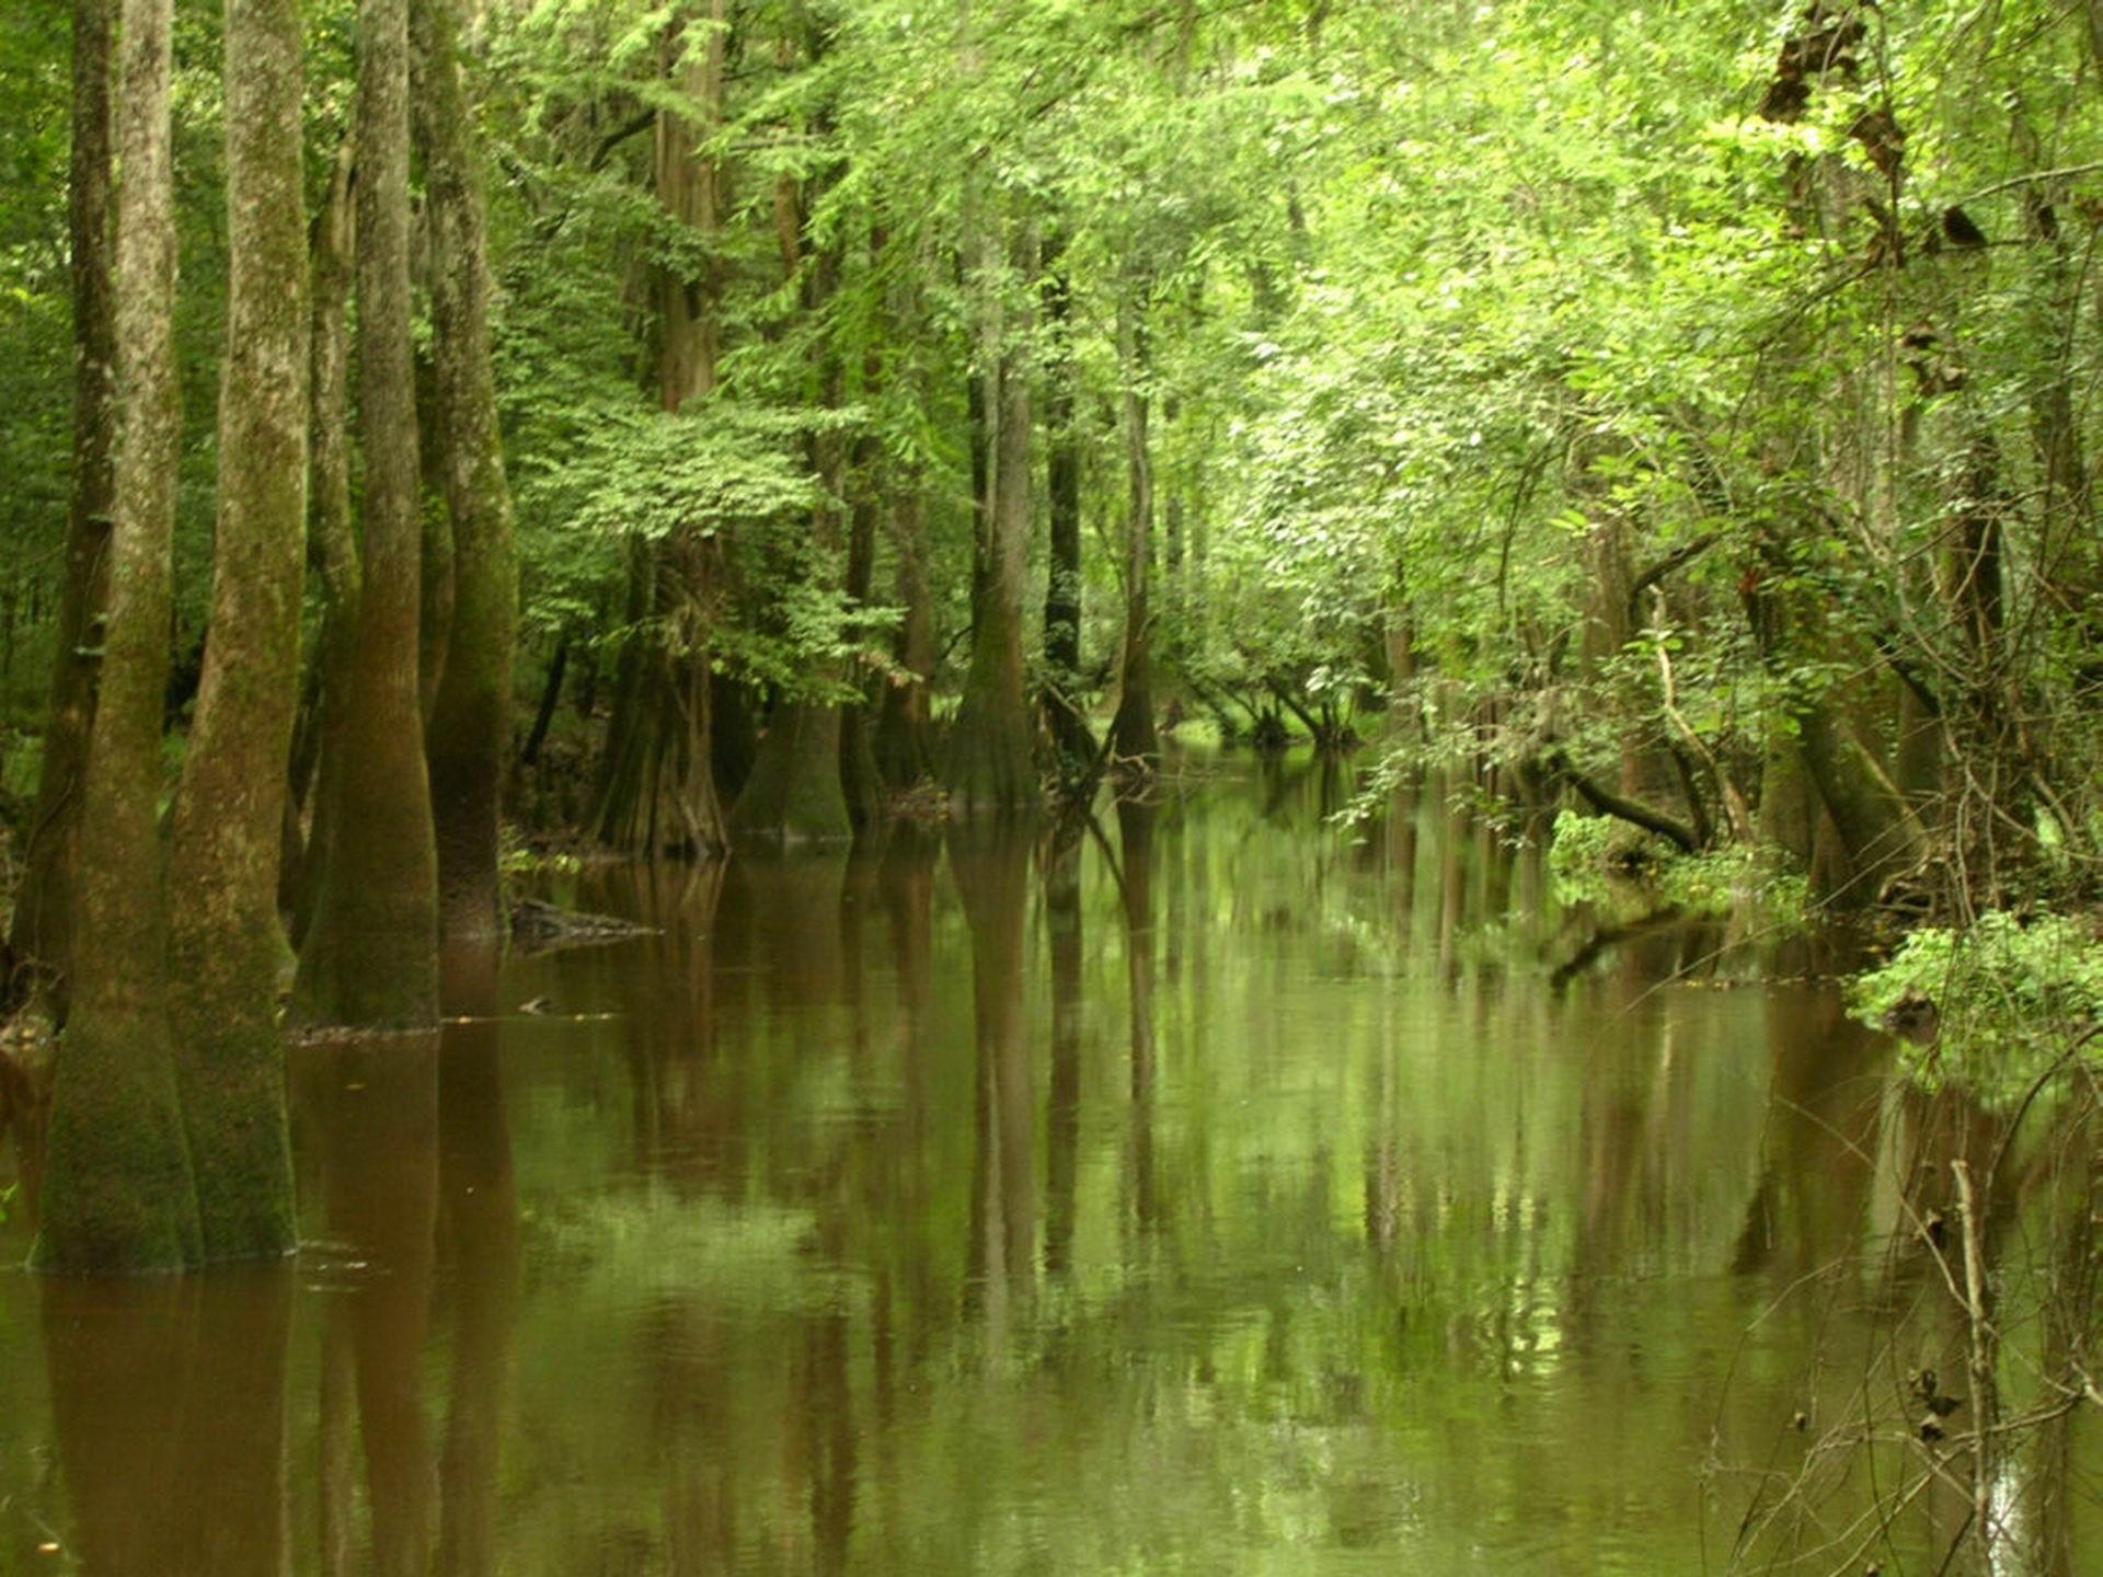
{"label": "right trunk of the joined mossy pair standing nearest in water", "polygon": [[212,622],[175,801],[168,1020],[208,1259],[290,1253],[278,856],[299,704],[307,235],[297,0],[227,0],[227,357]]}

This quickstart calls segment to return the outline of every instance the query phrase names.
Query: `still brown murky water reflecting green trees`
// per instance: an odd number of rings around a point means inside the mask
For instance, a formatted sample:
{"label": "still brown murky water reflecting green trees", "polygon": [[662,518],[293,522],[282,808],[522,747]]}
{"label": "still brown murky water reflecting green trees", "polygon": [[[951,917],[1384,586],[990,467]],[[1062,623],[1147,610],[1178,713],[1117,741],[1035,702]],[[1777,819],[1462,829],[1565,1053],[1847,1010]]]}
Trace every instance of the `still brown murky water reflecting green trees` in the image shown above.
{"label": "still brown murky water reflecting green trees", "polygon": [[660,934],[297,1053],[294,1264],[0,1272],[0,1573],[1729,1566],[1905,1356],[1886,1053],[1335,793],[568,883]]}

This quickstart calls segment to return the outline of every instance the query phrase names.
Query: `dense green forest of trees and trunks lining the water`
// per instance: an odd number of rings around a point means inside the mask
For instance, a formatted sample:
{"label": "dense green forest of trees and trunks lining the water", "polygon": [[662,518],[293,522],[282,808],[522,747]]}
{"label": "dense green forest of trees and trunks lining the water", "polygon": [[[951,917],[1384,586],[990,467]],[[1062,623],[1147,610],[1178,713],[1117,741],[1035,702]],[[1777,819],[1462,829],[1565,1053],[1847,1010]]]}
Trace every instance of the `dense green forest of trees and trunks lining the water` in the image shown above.
{"label": "dense green forest of trees and trunks lining the water", "polygon": [[431,1022],[522,849],[1176,734],[2050,936],[2080,1020],[2099,74],[2027,0],[11,6],[42,1262],[290,1247],[280,980]]}

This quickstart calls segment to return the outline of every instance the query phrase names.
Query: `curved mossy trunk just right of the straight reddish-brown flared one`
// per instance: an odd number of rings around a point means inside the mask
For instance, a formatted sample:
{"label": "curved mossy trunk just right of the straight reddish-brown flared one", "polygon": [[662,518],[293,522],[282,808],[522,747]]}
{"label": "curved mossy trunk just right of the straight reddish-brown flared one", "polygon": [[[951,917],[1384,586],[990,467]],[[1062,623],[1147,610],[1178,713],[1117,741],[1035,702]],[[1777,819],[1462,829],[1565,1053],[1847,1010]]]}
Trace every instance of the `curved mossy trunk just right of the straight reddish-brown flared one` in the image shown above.
{"label": "curved mossy trunk just right of the straight reddish-brown flared one", "polygon": [[425,755],[446,938],[498,934],[496,812],[511,744],[517,555],[490,372],[490,261],[454,0],[414,0],[416,122],[431,214],[431,360],[452,517],[452,627]]}

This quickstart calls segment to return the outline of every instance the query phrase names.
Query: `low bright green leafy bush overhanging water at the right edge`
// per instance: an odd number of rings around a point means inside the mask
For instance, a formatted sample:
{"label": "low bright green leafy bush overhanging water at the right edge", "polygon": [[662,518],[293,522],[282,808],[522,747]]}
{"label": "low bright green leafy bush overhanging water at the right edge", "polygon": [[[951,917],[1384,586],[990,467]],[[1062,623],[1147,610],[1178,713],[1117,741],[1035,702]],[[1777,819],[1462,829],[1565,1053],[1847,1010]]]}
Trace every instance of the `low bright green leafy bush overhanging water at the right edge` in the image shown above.
{"label": "low bright green leafy bush overhanging water at the right edge", "polygon": [[2019,1100],[2103,1022],[2103,942],[2078,919],[1994,910],[1926,927],[1849,984],[1849,1011],[1907,1035],[1907,1072],[1994,1106]]}

